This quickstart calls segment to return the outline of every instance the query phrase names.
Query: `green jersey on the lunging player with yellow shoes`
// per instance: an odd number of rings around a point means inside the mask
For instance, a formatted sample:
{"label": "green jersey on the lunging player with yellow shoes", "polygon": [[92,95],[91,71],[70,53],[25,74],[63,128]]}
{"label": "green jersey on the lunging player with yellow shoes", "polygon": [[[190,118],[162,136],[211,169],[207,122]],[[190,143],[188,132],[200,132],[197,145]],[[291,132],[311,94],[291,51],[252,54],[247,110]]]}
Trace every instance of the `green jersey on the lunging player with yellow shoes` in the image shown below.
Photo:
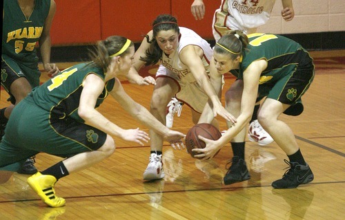
{"label": "green jersey on the lunging player with yellow shoes", "polygon": [[[26,99],[34,102],[42,109],[50,111],[50,117],[60,119],[70,117],[83,122],[77,110],[81,91],[83,91],[83,80],[88,74],[97,74],[102,79],[105,78],[103,69],[88,65],[88,63],[80,63],[63,70],[59,75],[41,86],[35,87]],[[108,91],[111,91],[114,85],[115,78],[106,83],[106,87],[97,100],[96,108],[108,96]]]}

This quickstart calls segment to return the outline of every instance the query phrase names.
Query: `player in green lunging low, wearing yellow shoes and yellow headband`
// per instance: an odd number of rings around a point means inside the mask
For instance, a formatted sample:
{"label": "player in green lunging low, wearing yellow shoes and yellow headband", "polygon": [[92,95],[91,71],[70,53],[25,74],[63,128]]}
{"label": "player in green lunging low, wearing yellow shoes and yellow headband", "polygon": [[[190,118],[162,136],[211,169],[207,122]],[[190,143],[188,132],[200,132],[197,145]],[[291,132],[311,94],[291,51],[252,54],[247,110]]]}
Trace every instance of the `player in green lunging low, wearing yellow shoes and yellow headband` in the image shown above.
{"label": "player in green lunging low, wearing yellow shoes and yellow headband", "polygon": [[55,195],[57,180],[112,155],[112,136],[141,145],[148,142],[146,132],[121,129],[96,110],[109,94],[133,118],[179,147],[184,134],[168,129],[132,100],[117,78],[128,74],[134,53],[132,41],[110,36],[98,43],[92,62],[65,69],[19,102],[0,143],[0,183],[39,152],[66,157],[28,178],[30,187],[48,206],[64,206],[65,199]]}

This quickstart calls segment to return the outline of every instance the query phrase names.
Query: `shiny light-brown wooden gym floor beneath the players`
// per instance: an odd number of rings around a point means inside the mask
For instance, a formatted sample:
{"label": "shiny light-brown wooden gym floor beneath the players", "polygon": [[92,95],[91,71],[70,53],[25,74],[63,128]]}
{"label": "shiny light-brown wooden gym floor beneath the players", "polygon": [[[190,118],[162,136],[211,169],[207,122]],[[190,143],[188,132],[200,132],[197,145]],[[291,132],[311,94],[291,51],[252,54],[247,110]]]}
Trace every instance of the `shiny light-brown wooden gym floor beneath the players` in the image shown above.
{"label": "shiny light-brown wooden gym floor beneath the players", "polygon": [[[186,151],[164,146],[166,177],[144,182],[150,146],[138,146],[115,137],[117,151],[108,159],[60,179],[55,190],[66,206],[48,208],[26,184],[28,175],[15,174],[0,185],[0,219],[344,219],[345,216],[345,50],[311,52],[316,76],[303,101],[302,115],[282,115],[293,129],[315,179],[295,189],[276,190],[287,165],[273,142],[259,146],[246,142],[251,179],[225,186],[222,178],[232,157],[230,144],[214,159],[200,162]],[[74,63],[59,63],[64,69]],[[155,74],[155,68],[143,74]],[[48,78],[43,73],[42,82]],[[234,78],[226,78],[225,89]],[[128,94],[149,107],[152,86],[130,85]],[[143,94],[145,94],[143,96]],[[1,90],[0,107],[8,94]],[[224,102],[224,100],[223,100]],[[99,111],[119,126],[146,129],[108,98]],[[226,124],[219,118],[221,129]],[[175,116],[174,129],[186,133],[193,126],[188,107]],[[147,130],[147,129],[146,129]],[[60,158],[40,153],[36,166],[44,170]]]}

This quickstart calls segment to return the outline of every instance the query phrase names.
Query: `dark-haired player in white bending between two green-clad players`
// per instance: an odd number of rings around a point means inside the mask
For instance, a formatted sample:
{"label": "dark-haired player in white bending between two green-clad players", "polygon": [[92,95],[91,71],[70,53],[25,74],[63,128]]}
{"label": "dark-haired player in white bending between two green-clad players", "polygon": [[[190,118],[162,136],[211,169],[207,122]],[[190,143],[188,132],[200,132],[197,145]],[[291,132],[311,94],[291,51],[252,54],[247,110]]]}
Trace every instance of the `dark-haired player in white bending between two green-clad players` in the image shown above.
{"label": "dark-haired player in white bending between two green-clad players", "polygon": [[[177,19],[170,14],[161,14],[152,23],[152,30],[146,34],[135,53],[130,80],[138,83],[145,80],[138,72],[144,65],[160,63],[155,80],[155,89],[150,103],[150,112],[166,122],[166,105],[173,96],[186,103],[192,110],[193,122],[197,123],[206,102],[210,99],[213,113],[227,121],[235,122],[233,115],[221,105],[218,94],[208,78],[212,49],[193,30],[179,28]],[[217,124],[216,124],[217,125]],[[150,163],[144,172],[144,179],[164,177],[161,163],[163,139],[150,130]]]}

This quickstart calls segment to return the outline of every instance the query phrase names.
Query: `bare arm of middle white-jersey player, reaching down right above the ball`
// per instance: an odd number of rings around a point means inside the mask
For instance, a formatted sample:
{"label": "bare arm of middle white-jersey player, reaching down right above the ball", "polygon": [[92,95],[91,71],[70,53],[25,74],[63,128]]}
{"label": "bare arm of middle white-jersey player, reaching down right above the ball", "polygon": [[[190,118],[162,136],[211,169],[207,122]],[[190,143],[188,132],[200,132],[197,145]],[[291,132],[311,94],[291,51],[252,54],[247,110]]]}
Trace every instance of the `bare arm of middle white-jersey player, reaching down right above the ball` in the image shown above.
{"label": "bare arm of middle white-jersey player, reaching down right above the ball", "polygon": [[188,45],[181,50],[179,58],[181,62],[187,65],[190,72],[193,74],[195,80],[204,89],[208,98],[213,104],[213,116],[217,114],[225,118],[227,121],[235,122],[233,115],[228,113],[226,109],[221,105],[221,102],[215,92],[215,88],[210,83],[210,79],[207,76],[206,69],[201,61],[201,57],[204,55],[203,50],[195,45]]}

